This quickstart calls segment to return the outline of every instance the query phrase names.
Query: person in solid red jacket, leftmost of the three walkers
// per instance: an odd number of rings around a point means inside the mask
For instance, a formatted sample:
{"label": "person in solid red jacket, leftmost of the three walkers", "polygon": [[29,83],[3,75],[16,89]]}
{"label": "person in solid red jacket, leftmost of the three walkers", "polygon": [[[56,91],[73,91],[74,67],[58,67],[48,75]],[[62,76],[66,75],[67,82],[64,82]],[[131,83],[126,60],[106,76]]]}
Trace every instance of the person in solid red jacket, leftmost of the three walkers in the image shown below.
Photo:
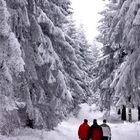
{"label": "person in solid red jacket, leftmost of the three walkers", "polygon": [[88,130],[89,130],[88,120],[84,119],[84,123],[81,124],[78,129],[79,139],[88,140]]}

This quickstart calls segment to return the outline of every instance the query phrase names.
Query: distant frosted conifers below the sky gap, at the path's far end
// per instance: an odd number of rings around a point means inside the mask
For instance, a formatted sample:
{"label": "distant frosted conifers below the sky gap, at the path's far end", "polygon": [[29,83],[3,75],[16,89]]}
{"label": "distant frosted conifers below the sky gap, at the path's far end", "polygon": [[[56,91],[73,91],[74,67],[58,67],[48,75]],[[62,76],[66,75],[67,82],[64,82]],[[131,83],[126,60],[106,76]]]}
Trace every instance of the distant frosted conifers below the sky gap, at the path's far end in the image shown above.
{"label": "distant frosted conifers below the sky gap, at the path's far end", "polygon": [[93,44],[89,44],[83,25],[76,27],[75,22],[70,18],[70,23],[65,25],[65,32],[70,33],[70,37],[75,42],[75,54],[78,61],[78,66],[81,70],[84,71],[84,82],[81,85],[82,88],[86,91],[86,96],[82,99],[83,102],[94,102],[94,91],[93,91],[93,79],[94,77],[94,68],[97,65],[96,60],[99,56],[99,49],[95,41]]}

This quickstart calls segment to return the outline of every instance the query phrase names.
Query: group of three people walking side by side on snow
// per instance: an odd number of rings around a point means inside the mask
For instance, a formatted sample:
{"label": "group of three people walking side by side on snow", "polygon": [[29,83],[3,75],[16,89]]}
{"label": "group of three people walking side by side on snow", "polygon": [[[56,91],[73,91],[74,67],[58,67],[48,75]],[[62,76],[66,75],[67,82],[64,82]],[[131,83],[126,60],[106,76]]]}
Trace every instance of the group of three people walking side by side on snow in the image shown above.
{"label": "group of three people walking side by side on snow", "polygon": [[88,120],[84,119],[84,123],[78,129],[80,140],[111,140],[111,129],[103,120],[102,125],[98,125],[97,120],[93,120],[93,125],[88,125]]}

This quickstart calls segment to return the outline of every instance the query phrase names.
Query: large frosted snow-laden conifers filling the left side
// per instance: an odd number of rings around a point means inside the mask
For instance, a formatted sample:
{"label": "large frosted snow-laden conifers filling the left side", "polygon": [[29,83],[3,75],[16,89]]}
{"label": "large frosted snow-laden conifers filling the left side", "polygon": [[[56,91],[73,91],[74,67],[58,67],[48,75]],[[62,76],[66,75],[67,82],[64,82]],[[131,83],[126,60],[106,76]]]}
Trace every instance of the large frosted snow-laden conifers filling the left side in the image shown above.
{"label": "large frosted snow-laden conifers filling the left side", "polygon": [[[86,38],[64,32],[71,14],[69,0],[0,0],[0,98],[10,102],[2,105],[4,134],[53,129],[92,94]],[[13,119],[9,130],[4,117]]]}

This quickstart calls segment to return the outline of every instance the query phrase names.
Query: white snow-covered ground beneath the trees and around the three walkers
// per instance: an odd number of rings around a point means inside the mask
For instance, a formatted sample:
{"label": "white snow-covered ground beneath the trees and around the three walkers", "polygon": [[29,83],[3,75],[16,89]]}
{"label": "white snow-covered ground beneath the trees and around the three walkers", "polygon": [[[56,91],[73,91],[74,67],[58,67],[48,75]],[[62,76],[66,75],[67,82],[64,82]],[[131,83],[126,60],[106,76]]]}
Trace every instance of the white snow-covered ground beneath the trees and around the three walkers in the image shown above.
{"label": "white snow-covered ground beneath the trees and around the three walkers", "polygon": [[[90,125],[94,118],[98,120],[98,124],[101,124],[102,113],[96,111],[95,106],[89,107],[83,104],[77,118],[70,117],[70,119],[59,124],[53,131],[24,129],[19,130],[14,137],[6,138],[1,136],[0,140],[78,140],[77,130],[84,118],[89,120]],[[114,116],[109,125],[112,130],[112,140],[140,139],[140,122],[119,122]]]}

